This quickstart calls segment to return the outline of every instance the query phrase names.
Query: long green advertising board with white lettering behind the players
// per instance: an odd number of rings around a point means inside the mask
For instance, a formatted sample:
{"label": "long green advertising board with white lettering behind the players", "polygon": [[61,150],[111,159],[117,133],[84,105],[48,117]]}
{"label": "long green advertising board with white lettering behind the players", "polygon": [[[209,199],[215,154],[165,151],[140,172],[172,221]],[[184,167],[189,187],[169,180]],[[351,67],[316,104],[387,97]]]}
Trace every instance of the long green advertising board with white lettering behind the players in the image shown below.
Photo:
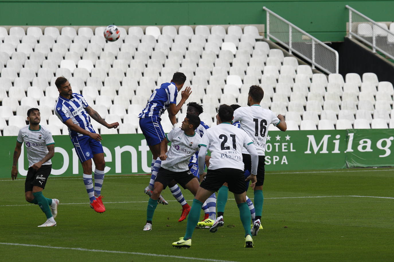
{"label": "long green advertising board with white lettering behind the players", "polygon": [[[147,174],[152,154],[142,134],[102,135],[106,174]],[[348,167],[394,166],[394,129],[349,129],[312,131],[269,131],[266,144],[266,170],[323,170]],[[80,176],[82,167],[68,136],[54,136],[52,174]],[[0,137],[0,158],[10,178],[16,137]],[[28,161],[23,148],[19,174],[26,176]]]}

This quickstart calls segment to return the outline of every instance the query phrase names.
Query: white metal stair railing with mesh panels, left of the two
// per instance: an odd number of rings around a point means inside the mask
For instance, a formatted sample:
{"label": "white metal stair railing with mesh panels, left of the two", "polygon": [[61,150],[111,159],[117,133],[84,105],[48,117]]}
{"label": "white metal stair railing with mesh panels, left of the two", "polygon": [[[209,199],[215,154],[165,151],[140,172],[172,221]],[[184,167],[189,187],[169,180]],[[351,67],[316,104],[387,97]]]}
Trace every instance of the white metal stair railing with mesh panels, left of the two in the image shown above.
{"label": "white metal stair railing with mesh panels, left of the two", "polygon": [[338,73],[339,55],[336,50],[290,23],[265,6],[267,39],[272,38],[325,73]]}

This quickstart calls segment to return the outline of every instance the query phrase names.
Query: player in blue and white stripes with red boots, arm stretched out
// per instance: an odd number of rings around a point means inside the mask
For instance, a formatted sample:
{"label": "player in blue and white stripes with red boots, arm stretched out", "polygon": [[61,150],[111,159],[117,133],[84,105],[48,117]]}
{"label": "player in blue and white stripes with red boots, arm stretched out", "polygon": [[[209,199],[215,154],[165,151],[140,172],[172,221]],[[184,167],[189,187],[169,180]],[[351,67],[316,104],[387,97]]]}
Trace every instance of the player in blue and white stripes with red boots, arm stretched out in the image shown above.
{"label": "player in blue and white stripes with red boots, arm stretched out", "polygon": [[[69,128],[69,136],[74,145],[75,152],[82,163],[84,170],[84,184],[90,200],[90,207],[98,213],[105,211],[102,203],[101,187],[104,180],[104,151],[97,134],[90,123],[90,117],[95,119],[106,128],[117,128],[119,123],[108,124],[93,110],[78,93],[72,93],[71,84],[64,77],[58,77],[55,81],[59,91],[54,112],[59,119]],[[92,159],[95,162],[95,186],[92,181]]]}

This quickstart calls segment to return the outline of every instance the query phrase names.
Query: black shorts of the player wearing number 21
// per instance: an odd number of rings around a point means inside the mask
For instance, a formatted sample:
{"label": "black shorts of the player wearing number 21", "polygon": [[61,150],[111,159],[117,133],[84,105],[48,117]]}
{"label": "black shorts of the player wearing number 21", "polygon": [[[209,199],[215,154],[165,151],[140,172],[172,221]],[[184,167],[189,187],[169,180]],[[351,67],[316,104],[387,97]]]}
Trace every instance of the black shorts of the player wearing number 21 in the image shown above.
{"label": "black shorts of the player wearing number 21", "polygon": [[245,177],[243,174],[244,171],[234,168],[208,169],[200,187],[209,191],[218,191],[224,183],[227,183],[229,191],[234,194],[242,194],[245,192]]}

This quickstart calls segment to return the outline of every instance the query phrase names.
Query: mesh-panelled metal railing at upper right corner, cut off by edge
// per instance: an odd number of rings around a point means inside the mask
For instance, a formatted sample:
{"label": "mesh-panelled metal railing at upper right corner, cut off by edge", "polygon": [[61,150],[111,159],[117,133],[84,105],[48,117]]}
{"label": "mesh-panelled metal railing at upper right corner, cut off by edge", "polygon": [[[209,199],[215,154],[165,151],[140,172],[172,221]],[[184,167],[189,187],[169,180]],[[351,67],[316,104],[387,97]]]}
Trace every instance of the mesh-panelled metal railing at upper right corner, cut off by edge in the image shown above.
{"label": "mesh-panelled metal railing at upper right corner, cut off by edge", "polygon": [[384,23],[377,23],[354,8],[346,5],[349,9],[349,38],[370,45],[372,52],[376,50],[394,59],[394,33],[388,30]]}

